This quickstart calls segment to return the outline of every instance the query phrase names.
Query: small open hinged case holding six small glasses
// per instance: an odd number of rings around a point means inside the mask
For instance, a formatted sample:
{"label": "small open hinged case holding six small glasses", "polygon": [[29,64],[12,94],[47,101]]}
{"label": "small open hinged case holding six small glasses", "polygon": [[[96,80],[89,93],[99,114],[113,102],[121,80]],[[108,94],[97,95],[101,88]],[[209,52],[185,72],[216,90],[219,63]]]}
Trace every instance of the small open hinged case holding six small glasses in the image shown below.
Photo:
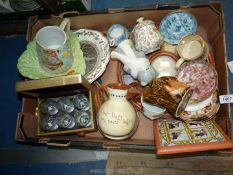
{"label": "small open hinged case holding six small glasses", "polygon": [[[96,130],[94,111],[95,107],[93,106],[94,103],[92,87],[80,74],[17,82],[16,91],[22,93],[24,96],[29,96],[32,99],[35,98],[36,100],[35,102],[37,104],[35,104],[36,107],[34,109],[34,117],[37,119],[38,136],[67,135],[77,133],[83,134],[85,132]],[[75,112],[78,115],[78,112],[81,111],[78,108],[76,109],[72,102],[73,97],[75,97],[77,94],[85,95],[89,102],[88,109],[85,111],[86,114],[89,114],[89,121],[87,122],[86,126],[80,126],[80,124],[76,122],[74,117]],[[57,101],[62,98],[65,98],[66,100],[68,99],[69,102],[71,102],[73,107],[72,111],[64,112],[64,109],[59,109],[61,105],[59,106],[59,103]],[[58,109],[56,109],[56,114],[54,115],[45,114],[39,109],[39,104],[41,104],[43,100],[45,101],[48,99],[50,100],[50,102],[52,101],[54,104],[57,105]],[[46,107],[48,108],[50,106]],[[44,122],[44,125],[47,128],[50,125],[50,130],[41,129],[40,127],[40,123],[42,123],[41,121],[43,119],[47,119],[46,117],[49,121],[46,121],[47,123]],[[57,123],[59,121],[62,124],[63,128],[59,128],[59,125],[55,123],[55,126],[57,126],[57,128],[51,129],[51,125],[53,123],[51,122],[51,118],[55,119]],[[69,126],[70,128],[64,128],[64,126]]]}

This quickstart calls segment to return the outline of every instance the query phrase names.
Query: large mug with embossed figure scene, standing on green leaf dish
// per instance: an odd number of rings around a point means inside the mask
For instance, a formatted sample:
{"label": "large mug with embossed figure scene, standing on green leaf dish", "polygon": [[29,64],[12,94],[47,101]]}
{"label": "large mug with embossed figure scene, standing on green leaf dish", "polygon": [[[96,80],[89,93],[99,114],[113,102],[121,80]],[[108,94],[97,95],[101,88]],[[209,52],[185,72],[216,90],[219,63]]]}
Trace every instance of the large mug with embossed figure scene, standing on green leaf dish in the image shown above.
{"label": "large mug with embossed figure scene, standing on green leaf dish", "polygon": [[72,66],[69,42],[71,21],[64,18],[60,26],[46,26],[36,34],[36,51],[40,66],[49,73],[63,73]]}

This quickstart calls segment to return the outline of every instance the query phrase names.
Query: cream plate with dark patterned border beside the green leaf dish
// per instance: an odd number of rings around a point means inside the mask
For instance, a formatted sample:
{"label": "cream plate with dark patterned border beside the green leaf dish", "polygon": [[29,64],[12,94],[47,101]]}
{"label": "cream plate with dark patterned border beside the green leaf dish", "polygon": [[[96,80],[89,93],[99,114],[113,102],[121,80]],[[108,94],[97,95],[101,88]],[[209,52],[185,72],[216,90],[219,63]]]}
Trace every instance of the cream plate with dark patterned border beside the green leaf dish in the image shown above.
{"label": "cream plate with dark patterned border beside the green leaf dish", "polygon": [[104,73],[109,62],[108,40],[102,33],[95,30],[79,29],[75,33],[79,37],[86,62],[87,69],[84,77],[92,83]]}

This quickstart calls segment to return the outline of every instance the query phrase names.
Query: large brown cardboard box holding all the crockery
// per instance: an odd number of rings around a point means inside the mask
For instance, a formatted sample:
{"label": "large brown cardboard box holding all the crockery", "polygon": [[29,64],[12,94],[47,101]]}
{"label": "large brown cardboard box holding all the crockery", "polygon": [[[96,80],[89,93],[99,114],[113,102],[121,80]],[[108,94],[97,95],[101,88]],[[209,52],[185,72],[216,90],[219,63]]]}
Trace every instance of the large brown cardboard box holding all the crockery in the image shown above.
{"label": "large brown cardboard box holding all the crockery", "polygon": [[[224,14],[221,3],[209,3],[204,5],[194,6],[163,6],[151,7],[149,9],[118,9],[110,10],[108,13],[91,13],[89,15],[80,15],[70,17],[72,21],[71,29],[76,30],[79,28],[88,28],[98,30],[106,34],[108,28],[115,23],[121,23],[128,28],[133,28],[136,20],[139,17],[153,20],[156,26],[159,26],[160,21],[165,15],[174,10],[186,10],[191,12],[197,19],[198,31],[210,47],[210,52],[215,59],[216,70],[219,76],[218,89],[220,95],[229,93],[228,72],[226,65],[226,47],[225,47],[225,33],[224,33]],[[61,22],[59,17],[51,17],[49,19],[39,19],[34,16],[29,18],[28,21],[28,41],[32,40],[36,32],[46,25],[57,25]],[[220,78],[221,77],[221,78]],[[117,78],[117,61],[110,61],[105,73],[101,76],[104,85],[109,83],[118,82]],[[113,141],[104,138],[100,132],[88,133],[85,137],[49,137],[38,138],[36,135],[36,120],[33,116],[36,100],[25,97],[23,99],[23,107],[19,113],[16,140],[22,142],[40,143],[45,142],[52,145],[69,145],[69,146],[85,146],[89,147],[102,147],[102,148],[127,148],[136,149],[137,151],[154,150],[154,133],[153,122],[145,118],[139,113],[139,126],[136,133],[131,139],[124,141]],[[223,131],[232,138],[231,135],[231,113],[230,105],[221,105],[216,117],[217,123],[221,126]],[[65,144],[64,144],[65,143]]]}

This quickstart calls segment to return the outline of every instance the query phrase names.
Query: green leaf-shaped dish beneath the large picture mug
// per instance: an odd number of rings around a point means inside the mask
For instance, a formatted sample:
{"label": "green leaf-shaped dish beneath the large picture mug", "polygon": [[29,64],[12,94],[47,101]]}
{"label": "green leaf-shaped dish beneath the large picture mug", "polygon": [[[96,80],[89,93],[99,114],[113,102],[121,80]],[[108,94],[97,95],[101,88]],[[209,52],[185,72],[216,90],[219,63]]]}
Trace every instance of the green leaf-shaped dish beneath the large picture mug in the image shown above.
{"label": "green leaf-shaped dish beneath the large picture mug", "polygon": [[70,75],[70,74],[85,74],[86,64],[83,58],[83,52],[80,49],[79,39],[75,33],[69,33],[70,44],[74,61],[71,68],[63,73],[52,74],[41,68],[37,52],[35,39],[28,43],[27,49],[21,54],[18,59],[17,68],[21,75],[30,79],[49,78],[54,76]]}

